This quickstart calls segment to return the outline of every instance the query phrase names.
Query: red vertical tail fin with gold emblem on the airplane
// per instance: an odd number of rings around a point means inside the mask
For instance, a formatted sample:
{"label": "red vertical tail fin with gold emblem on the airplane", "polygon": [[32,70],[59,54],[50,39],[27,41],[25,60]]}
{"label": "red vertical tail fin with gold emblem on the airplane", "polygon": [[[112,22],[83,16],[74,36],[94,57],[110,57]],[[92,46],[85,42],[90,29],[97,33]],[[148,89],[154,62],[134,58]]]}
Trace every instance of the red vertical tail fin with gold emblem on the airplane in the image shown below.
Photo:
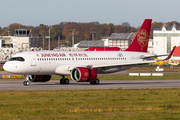
{"label": "red vertical tail fin with gold emblem on the airplane", "polygon": [[145,19],[133,42],[125,51],[147,52],[152,19]]}

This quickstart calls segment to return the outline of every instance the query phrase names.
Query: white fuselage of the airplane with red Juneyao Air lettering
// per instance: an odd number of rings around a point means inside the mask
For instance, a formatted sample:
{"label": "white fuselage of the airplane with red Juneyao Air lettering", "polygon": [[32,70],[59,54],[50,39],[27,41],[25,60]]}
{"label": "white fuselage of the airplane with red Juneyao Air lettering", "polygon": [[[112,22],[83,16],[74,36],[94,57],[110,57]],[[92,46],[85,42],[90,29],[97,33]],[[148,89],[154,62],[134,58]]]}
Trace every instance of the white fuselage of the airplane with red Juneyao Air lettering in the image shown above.
{"label": "white fuselage of the airplane with red Juneyao Air lettering", "polygon": [[[32,51],[17,53],[12,58],[22,57],[24,61],[9,60],[4,69],[11,73],[31,75],[70,75],[73,67],[111,65],[143,61],[141,56],[154,54],[126,51]],[[130,65],[131,66],[131,65]],[[134,66],[134,65],[133,65]],[[131,66],[132,67],[132,66]],[[104,67],[108,70],[114,67]],[[118,67],[118,70],[122,70]]]}

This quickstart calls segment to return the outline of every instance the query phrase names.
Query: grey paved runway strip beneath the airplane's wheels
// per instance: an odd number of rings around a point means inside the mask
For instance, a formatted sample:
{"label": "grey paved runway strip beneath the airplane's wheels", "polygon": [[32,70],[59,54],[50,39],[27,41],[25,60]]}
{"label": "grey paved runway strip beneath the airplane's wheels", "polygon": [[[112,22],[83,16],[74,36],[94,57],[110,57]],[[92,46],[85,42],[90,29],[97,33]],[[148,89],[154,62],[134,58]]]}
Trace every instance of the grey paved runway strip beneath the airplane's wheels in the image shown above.
{"label": "grey paved runway strip beneath the airplane's wheels", "polygon": [[51,80],[31,82],[29,86],[24,86],[23,81],[24,79],[0,79],[0,91],[180,88],[180,80],[101,80],[99,85],[74,81],[70,81],[69,85],[61,85],[59,80]]}

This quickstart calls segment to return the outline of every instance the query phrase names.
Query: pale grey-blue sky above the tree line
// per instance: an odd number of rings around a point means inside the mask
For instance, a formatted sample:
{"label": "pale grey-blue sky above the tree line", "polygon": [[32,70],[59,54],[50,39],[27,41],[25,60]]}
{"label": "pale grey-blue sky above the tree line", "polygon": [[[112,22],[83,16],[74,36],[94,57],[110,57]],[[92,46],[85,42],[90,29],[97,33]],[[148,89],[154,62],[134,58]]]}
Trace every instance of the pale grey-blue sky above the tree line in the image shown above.
{"label": "pale grey-blue sky above the tree line", "polygon": [[94,22],[141,26],[144,19],[180,22],[180,0],[0,0],[0,26]]}

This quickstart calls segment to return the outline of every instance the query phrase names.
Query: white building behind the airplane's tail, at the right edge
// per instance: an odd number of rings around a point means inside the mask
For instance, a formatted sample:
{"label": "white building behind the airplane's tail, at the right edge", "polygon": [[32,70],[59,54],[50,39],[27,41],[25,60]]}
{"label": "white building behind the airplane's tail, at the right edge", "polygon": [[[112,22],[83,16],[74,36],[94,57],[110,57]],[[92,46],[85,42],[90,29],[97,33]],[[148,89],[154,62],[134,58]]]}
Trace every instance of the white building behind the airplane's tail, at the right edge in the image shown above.
{"label": "white building behind the airplane's tail, at the right edge", "polygon": [[180,44],[180,29],[177,29],[175,25],[171,29],[167,29],[165,25],[162,28],[155,28],[153,41],[155,54],[170,53],[174,46]]}

